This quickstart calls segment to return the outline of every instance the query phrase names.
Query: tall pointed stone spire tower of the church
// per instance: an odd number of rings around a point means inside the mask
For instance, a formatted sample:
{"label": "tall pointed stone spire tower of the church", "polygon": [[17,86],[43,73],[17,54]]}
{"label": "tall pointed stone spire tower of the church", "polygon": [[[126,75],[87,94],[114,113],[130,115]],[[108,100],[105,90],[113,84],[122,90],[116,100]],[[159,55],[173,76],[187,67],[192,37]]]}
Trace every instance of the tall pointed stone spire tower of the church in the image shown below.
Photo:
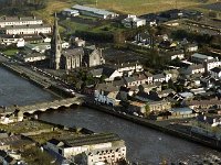
{"label": "tall pointed stone spire tower of the church", "polygon": [[50,59],[51,68],[60,69],[61,54],[62,54],[62,41],[59,33],[57,18],[55,13],[54,25],[53,25],[53,36],[51,40],[51,59]]}

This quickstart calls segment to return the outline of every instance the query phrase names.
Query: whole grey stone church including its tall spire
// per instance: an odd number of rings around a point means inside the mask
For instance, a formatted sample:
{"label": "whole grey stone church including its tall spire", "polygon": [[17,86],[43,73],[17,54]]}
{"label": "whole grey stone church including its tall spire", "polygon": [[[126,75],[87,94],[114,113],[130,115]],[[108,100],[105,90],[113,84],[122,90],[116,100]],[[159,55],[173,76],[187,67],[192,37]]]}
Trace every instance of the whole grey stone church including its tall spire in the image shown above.
{"label": "whole grey stone church including its tall spire", "polygon": [[55,14],[53,36],[51,40],[50,67],[53,69],[75,69],[102,64],[105,64],[102,50],[95,45],[62,50],[62,40]]}

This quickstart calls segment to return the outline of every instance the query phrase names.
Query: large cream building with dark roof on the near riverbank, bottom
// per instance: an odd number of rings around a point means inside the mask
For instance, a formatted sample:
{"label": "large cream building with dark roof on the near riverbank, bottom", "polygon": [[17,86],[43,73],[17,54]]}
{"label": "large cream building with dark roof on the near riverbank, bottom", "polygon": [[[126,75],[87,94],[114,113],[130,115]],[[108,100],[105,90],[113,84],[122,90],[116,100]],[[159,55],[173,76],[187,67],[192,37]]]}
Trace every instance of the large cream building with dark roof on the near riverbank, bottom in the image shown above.
{"label": "large cream building with dark roof on the near riverbank, bottom", "polygon": [[75,163],[94,165],[115,164],[126,158],[125,142],[113,133],[96,133],[77,138],[52,139],[45,147],[65,158],[74,157]]}

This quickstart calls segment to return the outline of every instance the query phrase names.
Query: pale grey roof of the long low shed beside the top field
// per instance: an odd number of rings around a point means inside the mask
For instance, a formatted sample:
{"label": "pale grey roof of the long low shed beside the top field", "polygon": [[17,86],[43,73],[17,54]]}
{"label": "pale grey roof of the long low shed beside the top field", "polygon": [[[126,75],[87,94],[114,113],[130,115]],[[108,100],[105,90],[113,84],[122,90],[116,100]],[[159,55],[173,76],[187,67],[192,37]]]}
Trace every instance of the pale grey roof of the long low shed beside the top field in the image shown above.
{"label": "pale grey roof of the long low shed beside the top field", "polygon": [[90,11],[99,15],[112,15],[115,14],[114,12],[109,12],[107,10],[104,9],[97,9],[97,8],[91,8],[91,7],[85,7],[85,6],[80,6],[80,4],[75,4],[72,7],[75,10],[84,10],[84,11]]}

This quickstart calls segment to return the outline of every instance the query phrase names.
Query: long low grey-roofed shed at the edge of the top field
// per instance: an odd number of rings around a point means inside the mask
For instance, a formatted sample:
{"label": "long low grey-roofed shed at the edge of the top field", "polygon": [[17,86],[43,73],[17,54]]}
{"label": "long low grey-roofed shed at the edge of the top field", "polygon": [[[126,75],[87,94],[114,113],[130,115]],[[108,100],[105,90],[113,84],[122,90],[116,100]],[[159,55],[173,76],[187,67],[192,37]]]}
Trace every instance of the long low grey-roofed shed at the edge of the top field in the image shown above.
{"label": "long low grey-roofed shed at the edge of the top field", "polygon": [[109,12],[104,9],[91,8],[91,7],[80,6],[80,4],[73,6],[72,9],[77,10],[80,14],[82,15],[88,15],[88,16],[94,16],[94,18],[99,18],[99,19],[105,19],[105,20],[114,19],[118,16],[117,13]]}

